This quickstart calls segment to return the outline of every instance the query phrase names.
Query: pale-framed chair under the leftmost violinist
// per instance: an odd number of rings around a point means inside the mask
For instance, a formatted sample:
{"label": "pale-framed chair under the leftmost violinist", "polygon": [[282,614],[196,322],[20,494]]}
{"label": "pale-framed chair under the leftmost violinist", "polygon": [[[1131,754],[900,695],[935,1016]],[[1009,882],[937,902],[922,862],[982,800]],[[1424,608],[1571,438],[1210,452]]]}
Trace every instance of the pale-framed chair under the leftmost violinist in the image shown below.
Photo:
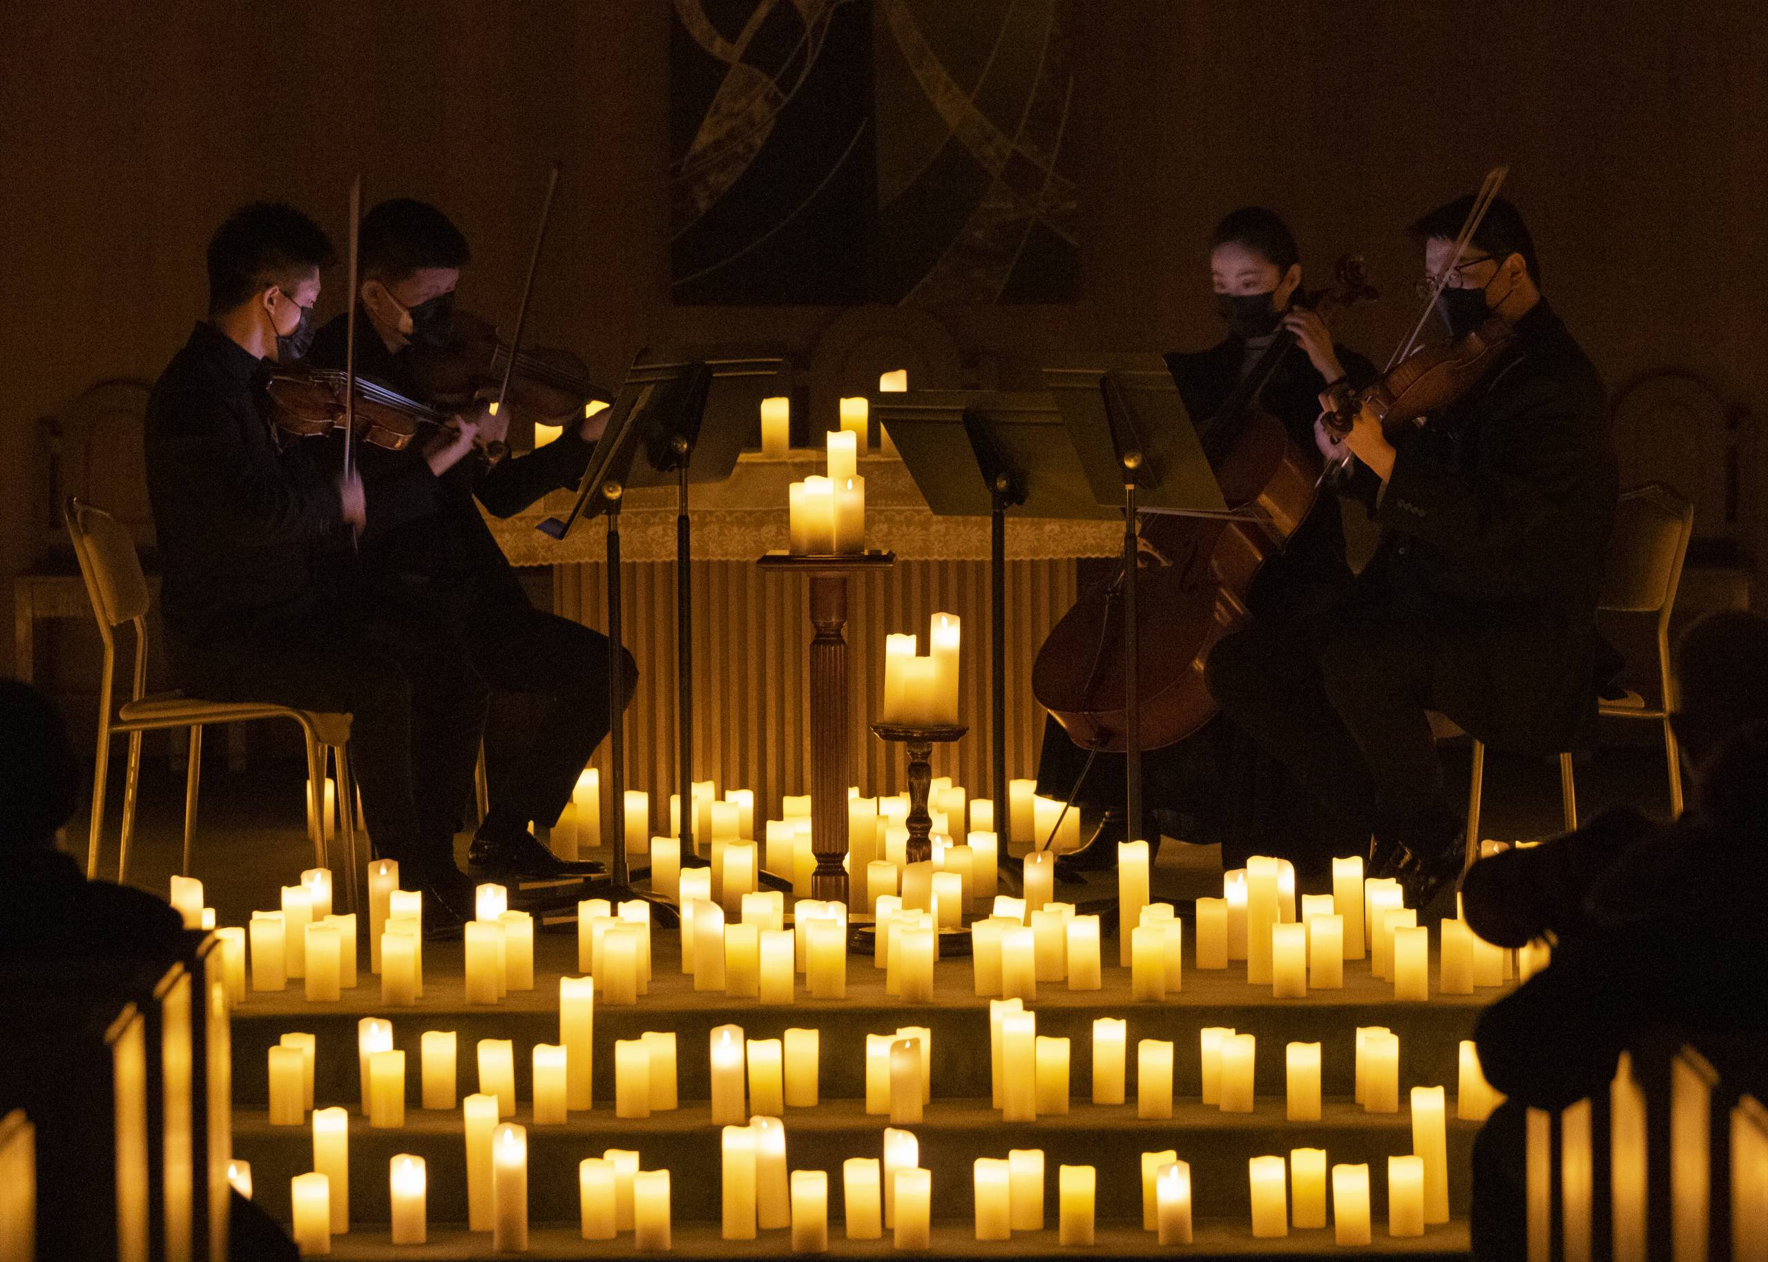
{"label": "pale-framed chair under the leftmost violinist", "polygon": [[[118,734],[129,735],[129,771],[122,799],[122,845],[117,854],[117,880],[129,875],[129,841],[134,834],[136,790],[141,772],[141,734],[164,728],[187,728],[191,739],[189,765],[184,785],[184,863],[180,871],[191,871],[191,850],[196,836],[196,790],[202,776],[203,726],[212,723],[244,723],[251,719],[292,719],[301,725],[308,749],[308,832],[313,840],[315,864],[329,868],[325,845],[324,795],[327,755],[338,765],[338,802],[354,802],[355,787],[350,776],[347,746],[350,741],[348,714],[322,714],[297,711],[288,705],[262,702],[205,702],[180,691],[147,693],[147,580],[129,532],[103,509],[67,500],[67,534],[74,543],[80,574],[87,583],[92,613],[104,643],[103,677],[99,680],[99,737],[97,760],[92,776],[92,836],[87,841],[87,878],[95,878],[104,832],[104,788],[110,776],[110,744]],[[134,672],[129,700],[115,703],[117,627],[129,624],[134,631]],[[355,811],[341,810],[347,863],[350,878],[343,882],[347,905],[355,908]]]}

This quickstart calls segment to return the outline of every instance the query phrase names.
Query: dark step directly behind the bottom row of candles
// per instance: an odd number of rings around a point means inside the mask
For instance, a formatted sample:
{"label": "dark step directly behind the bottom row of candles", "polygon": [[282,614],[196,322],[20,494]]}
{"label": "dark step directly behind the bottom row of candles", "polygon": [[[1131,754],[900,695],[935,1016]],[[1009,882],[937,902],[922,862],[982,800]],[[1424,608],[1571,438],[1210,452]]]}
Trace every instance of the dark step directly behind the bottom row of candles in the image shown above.
{"label": "dark step directly behind the bottom row of candles", "polygon": [[[1453,1108],[1452,1108],[1453,1112]],[[562,1126],[532,1126],[527,1108],[513,1119],[527,1126],[529,1204],[536,1221],[568,1221],[578,1213],[576,1165],[605,1149],[635,1149],[647,1170],[668,1170],[675,1188],[677,1220],[716,1218],[720,1213],[720,1133],[704,1105],[647,1119],[617,1119],[603,1105],[573,1114]],[[831,1195],[840,1190],[842,1161],[879,1156],[886,1117],[863,1112],[859,1101],[831,1101],[819,1108],[787,1110],[787,1163],[797,1170],[826,1170]],[[1098,1170],[1100,1218],[1140,1214],[1140,1152],[1176,1149],[1192,1165],[1192,1195],[1199,1214],[1248,1214],[1246,1161],[1292,1147],[1326,1149],[1328,1163],[1368,1163],[1377,1220],[1386,1214],[1386,1158],[1413,1151],[1411,1114],[1365,1114],[1345,1099],[1328,1099],[1317,1122],[1291,1122],[1284,1101],[1261,1098],[1252,1114],[1223,1114],[1195,1099],[1174,1101],[1170,1121],[1142,1121],[1135,1105],[1077,1105],[1059,1117],[1002,1122],[987,1099],[934,1101],[921,1124],[907,1128],[921,1145],[921,1165],[934,1172],[941,1214],[972,1213],[972,1163],[979,1156],[1004,1158],[1015,1147],[1045,1151],[1048,1205],[1055,1205],[1055,1167],[1093,1165]],[[1467,1209],[1473,1122],[1448,1122],[1450,1204]],[[290,1177],[313,1168],[308,1126],[271,1126],[263,1114],[235,1115],[233,1152],[251,1161],[258,1202],[274,1216],[288,1216]],[[428,1163],[430,1204],[453,1214],[465,1205],[465,1140],[458,1112],[410,1110],[400,1129],[375,1129],[350,1119],[350,1205],[366,1223],[385,1223],[387,1168],[398,1152]],[[442,1216],[442,1211],[437,1211]]]}

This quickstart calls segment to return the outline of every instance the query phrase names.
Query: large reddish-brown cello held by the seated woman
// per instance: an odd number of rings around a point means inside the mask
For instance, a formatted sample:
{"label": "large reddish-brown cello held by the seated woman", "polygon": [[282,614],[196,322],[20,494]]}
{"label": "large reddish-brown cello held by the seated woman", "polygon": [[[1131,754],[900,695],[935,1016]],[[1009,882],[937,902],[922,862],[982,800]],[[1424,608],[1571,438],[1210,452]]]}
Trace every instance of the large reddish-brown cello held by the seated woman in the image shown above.
{"label": "large reddish-brown cello held by the seated woman", "polygon": [[[1324,316],[1374,297],[1363,260],[1345,256],[1331,288],[1298,295],[1298,302]],[[1278,329],[1208,422],[1238,426],[1215,467],[1229,514],[1142,516],[1137,654],[1174,668],[1139,672],[1139,695],[1126,698],[1121,564],[1061,617],[1038,649],[1033,695],[1082,749],[1121,753],[1130,705],[1140,719],[1142,749],[1176,744],[1215,714],[1204,686],[1209,647],[1245,620],[1254,578],[1307,520],[1321,483],[1319,458],[1259,408],[1261,391],[1294,345],[1296,334]]]}

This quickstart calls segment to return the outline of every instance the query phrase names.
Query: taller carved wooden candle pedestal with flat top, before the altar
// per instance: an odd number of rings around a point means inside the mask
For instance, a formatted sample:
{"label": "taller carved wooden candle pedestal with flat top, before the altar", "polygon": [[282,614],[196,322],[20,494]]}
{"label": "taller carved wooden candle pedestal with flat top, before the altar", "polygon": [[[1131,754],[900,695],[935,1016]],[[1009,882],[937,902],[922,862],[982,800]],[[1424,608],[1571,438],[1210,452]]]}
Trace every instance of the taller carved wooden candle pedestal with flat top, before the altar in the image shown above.
{"label": "taller carved wooden candle pedestal with flat top, before the altar", "polygon": [[[810,624],[817,629],[810,642],[810,848],[817,855],[810,893],[812,898],[847,903],[842,861],[847,859],[847,785],[854,767],[847,744],[847,576],[889,569],[896,553],[792,557],[769,551],[757,564],[762,571],[810,576]],[[925,817],[925,783],[921,797]],[[926,836],[925,825],[921,836]]]}

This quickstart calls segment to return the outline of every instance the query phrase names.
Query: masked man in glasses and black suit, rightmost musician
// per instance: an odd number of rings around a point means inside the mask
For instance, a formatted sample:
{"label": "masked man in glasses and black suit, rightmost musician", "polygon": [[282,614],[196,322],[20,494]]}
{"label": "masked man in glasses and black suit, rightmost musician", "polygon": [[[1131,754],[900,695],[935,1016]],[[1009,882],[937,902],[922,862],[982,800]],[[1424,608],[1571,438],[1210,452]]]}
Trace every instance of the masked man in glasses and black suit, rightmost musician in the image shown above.
{"label": "masked man in glasses and black suit, rightmost musician", "polygon": [[[1315,794],[1368,824],[1372,875],[1423,907],[1460,870],[1427,711],[1505,749],[1568,748],[1595,698],[1595,606],[1614,514],[1597,369],[1540,292],[1535,244],[1497,198],[1457,249],[1473,198],[1413,224],[1452,338],[1496,315],[1515,332],[1423,424],[1367,410],[1321,451],[1383,543],[1322,617],[1254,619],[1209,654],[1216,702]],[[1425,290],[1429,292],[1429,290]]]}

